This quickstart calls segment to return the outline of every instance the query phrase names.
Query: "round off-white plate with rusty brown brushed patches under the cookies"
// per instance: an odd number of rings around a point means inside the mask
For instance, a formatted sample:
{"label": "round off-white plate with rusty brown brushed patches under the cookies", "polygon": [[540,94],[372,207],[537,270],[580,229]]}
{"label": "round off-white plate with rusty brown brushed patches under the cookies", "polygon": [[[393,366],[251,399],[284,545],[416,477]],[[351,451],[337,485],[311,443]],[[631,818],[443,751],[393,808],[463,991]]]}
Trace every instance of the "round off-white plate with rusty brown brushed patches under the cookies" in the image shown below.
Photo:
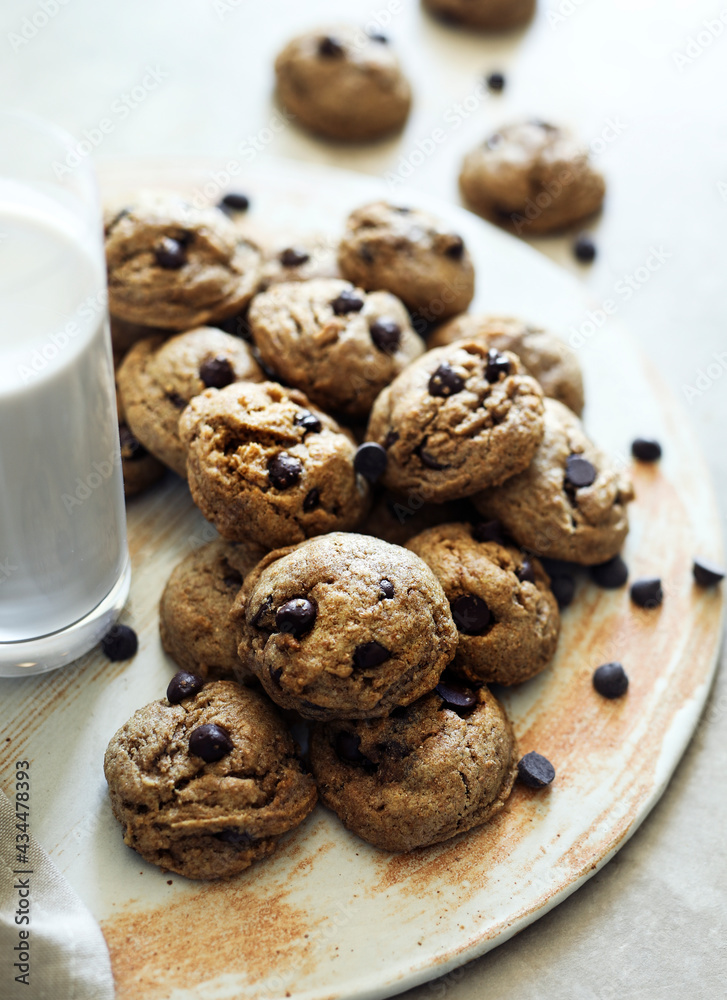
{"label": "round off-white plate with rusty brown brushed patches under the cookies", "polygon": [[[109,164],[106,196],[139,186],[214,194],[219,162]],[[223,180],[224,183],[224,180]],[[348,211],[390,196],[381,182],[332,170],[253,165],[250,225],[340,231]],[[517,240],[451,205],[413,193],[466,238],[477,269],[474,310],[586,332],[582,287]],[[626,559],[658,574],[663,607],[634,608],[625,589],[585,578],[564,613],[544,674],[504,693],[523,752],[553,761],[545,792],[517,787],[494,822],[408,855],[377,851],[319,807],[270,861],[225,884],[168,876],[124,847],[102,773],[109,737],[164,692],[172,663],[157,604],[174,564],[214,532],[173,476],[129,503],[134,576],[126,619],[139,632],[129,663],[98,654],[65,671],[0,687],[0,774],[33,761],[34,833],[101,921],[119,1000],[384,997],[507,940],[605,864],[663,792],[692,734],[714,672],[722,595],[692,582],[695,552],[721,558],[709,475],[681,407],[614,321],[579,350],[591,434],[631,464],[629,443],[653,434],[655,466],[634,465],[637,501]],[[631,684],[616,702],[591,674],[621,660]]]}

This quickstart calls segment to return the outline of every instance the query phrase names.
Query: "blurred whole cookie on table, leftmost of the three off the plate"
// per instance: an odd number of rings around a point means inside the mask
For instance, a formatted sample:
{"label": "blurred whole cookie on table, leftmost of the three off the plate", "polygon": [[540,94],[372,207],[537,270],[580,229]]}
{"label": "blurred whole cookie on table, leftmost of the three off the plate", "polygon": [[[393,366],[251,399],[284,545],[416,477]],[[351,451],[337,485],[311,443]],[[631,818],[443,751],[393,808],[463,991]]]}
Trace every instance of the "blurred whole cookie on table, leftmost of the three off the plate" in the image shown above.
{"label": "blurred whole cookie on table, leftmost of the three off the plate", "polygon": [[366,142],[397,132],[411,88],[386,36],[339,25],[306,32],[275,60],[278,97],[299,124],[329,139]]}

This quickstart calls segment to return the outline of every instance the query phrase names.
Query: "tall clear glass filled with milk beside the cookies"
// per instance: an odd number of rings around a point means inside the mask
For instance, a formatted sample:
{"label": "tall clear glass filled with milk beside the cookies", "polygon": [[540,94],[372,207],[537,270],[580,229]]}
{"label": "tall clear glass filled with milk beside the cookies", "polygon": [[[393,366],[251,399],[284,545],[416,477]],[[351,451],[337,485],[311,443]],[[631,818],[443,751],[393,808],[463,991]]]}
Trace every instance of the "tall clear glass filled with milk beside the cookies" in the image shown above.
{"label": "tall clear glass filled with milk beside the cookies", "polygon": [[128,595],[105,282],[89,159],[0,114],[0,676],[82,656]]}

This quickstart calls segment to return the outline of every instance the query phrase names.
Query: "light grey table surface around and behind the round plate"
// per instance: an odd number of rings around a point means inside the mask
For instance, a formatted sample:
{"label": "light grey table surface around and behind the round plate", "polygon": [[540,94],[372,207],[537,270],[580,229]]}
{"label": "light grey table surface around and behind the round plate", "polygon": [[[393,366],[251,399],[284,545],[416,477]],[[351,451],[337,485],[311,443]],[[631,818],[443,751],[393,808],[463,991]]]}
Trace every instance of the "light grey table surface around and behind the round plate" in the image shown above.
{"label": "light grey table surface around and behind the round plate", "polygon": [[[376,21],[401,50],[415,105],[395,140],[346,148],[294,126],[271,128],[275,52],[298,29],[341,18]],[[497,97],[479,85],[495,69],[507,77]],[[408,173],[407,184],[453,201],[461,156],[488,129],[519,115],[574,124],[608,179],[605,211],[590,227],[598,258],[578,265],[566,238],[535,245],[578,274],[594,307],[617,302],[682,398],[724,510],[727,5],[719,0],[541,0],[527,30],[503,37],[444,28],[416,0],[3,0],[0,106],[79,139],[110,119],[98,157],[227,157],[245,143],[255,159],[389,175],[392,192]],[[444,139],[431,155],[412,157],[431,148],[435,129]],[[726,716],[723,672],[666,794],[615,859],[508,943],[407,997],[727,995]]]}

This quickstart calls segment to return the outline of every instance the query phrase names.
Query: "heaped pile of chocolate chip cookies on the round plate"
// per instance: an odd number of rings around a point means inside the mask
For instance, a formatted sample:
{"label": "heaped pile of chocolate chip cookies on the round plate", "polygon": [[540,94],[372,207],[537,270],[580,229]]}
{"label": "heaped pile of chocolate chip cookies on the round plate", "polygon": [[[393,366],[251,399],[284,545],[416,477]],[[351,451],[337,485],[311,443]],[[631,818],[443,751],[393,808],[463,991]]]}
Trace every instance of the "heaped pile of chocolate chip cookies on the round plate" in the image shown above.
{"label": "heaped pile of chocolate chip cookies on the round plate", "polygon": [[172,469],[221,536],[172,573],[178,673],[105,761],[126,843],[192,878],[269,854],[317,796],[402,851],[552,780],[488,685],[551,662],[568,564],[613,585],[633,495],[566,345],[464,312],[446,224],[377,202],[323,254],[264,249],[245,203],[141,195],[106,230],[127,489]]}

